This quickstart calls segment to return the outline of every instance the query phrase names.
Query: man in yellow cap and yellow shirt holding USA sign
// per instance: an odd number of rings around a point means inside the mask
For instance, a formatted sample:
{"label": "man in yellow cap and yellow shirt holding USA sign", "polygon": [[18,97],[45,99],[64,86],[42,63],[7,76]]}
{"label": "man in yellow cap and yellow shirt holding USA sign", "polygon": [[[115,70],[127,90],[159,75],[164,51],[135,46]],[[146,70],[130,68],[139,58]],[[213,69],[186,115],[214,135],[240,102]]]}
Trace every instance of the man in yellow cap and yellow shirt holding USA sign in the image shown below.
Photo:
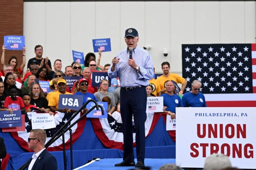
{"label": "man in yellow cap and yellow shirt holding USA sign", "polygon": [[61,113],[67,112],[68,111],[68,107],[65,107],[64,109],[59,109],[59,97],[60,94],[72,94],[70,92],[66,92],[66,88],[67,88],[67,82],[64,79],[60,79],[57,82],[57,86],[58,86],[58,91],[53,92],[50,99],[49,99],[49,104],[48,106],[50,107],[50,110],[52,112],[55,111],[59,111]]}

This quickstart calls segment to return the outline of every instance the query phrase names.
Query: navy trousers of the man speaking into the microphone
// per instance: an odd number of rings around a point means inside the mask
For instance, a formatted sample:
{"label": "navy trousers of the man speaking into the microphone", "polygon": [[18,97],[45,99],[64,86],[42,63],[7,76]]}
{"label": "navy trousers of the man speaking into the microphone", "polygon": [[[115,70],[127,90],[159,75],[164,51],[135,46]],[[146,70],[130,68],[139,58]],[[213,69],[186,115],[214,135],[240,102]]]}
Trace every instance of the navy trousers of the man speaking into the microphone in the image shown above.
{"label": "navy trousers of the man speaking into the microphone", "polygon": [[145,158],[145,119],[147,107],[147,92],[145,87],[128,90],[120,89],[120,112],[124,133],[125,161],[134,161],[132,115],[136,131],[137,161]]}

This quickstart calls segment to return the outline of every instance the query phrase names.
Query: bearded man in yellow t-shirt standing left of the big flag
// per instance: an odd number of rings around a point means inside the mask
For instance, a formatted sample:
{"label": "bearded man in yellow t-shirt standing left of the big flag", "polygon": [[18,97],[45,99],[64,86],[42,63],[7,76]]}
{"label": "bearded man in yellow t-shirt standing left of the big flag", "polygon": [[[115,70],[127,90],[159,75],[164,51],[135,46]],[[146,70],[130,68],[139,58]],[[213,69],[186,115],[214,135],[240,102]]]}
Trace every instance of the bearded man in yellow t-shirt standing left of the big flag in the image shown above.
{"label": "bearded man in yellow t-shirt standing left of the big flag", "polygon": [[176,83],[182,84],[181,91],[179,92],[179,95],[182,95],[188,83],[186,79],[182,78],[178,74],[169,73],[169,70],[170,70],[169,62],[167,61],[163,62],[161,65],[162,65],[163,75],[157,78],[159,85],[161,87],[161,94],[164,94],[166,92],[166,82],[169,80],[173,80]]}

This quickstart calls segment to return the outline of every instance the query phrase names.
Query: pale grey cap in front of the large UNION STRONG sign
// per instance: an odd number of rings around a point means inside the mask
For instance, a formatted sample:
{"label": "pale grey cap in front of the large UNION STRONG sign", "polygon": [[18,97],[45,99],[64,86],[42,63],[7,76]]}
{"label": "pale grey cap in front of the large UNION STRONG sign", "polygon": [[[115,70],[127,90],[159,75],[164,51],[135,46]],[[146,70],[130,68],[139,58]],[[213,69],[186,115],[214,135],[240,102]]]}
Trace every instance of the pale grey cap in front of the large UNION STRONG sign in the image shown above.
{"label": "pale grey cap in front of the large UNION STRONG sign", "polygon": [[224,154],[211,154],[205,159],[203,170],[221,170],[232,167],[230,159]]}

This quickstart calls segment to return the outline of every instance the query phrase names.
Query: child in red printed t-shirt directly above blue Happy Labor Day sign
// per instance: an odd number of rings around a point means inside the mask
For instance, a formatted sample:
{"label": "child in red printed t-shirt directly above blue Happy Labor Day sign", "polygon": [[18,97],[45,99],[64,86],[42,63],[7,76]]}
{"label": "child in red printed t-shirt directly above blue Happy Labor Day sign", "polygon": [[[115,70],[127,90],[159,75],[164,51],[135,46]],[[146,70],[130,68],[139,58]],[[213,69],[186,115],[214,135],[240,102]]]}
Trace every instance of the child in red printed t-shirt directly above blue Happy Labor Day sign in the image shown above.
{"label": "child in red printed t-shirt directly above blue Happy Labor Day sign", "polygon": [[[25,112],[25,105],[22,98],[17,96],[18,90],[15,85],[9,87],[9,94],[11,96],[5,98],[4,108],[11,108],[12,111],[21,110],[21,112]],[[10,111],[10,113],[12,113],[12,111]]]}

